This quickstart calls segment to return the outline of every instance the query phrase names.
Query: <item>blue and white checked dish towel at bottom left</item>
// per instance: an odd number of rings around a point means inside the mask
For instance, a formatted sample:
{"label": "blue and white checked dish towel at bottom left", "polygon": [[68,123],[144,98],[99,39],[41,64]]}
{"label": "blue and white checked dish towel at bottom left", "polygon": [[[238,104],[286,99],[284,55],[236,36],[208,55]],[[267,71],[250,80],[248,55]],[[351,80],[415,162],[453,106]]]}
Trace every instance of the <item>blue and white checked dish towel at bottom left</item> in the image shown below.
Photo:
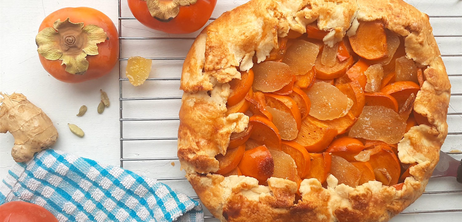
{"label": "blue and white checked dish towel at bottom left", "polygon": [[201,222],[201,205],[154,179],[45,149],[0,184],[0,204],[43,206],[60,222]]}

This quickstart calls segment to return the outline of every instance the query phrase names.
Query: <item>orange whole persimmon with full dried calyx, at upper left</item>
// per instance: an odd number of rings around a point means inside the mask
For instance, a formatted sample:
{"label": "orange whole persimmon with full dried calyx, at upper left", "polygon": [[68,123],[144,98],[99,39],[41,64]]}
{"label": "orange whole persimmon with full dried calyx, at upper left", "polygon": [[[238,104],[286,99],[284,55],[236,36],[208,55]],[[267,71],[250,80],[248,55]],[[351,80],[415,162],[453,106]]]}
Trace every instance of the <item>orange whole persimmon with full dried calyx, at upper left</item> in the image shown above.
{"label": "orange whole persimmon with full dried calyx, at upper left", "polygon": [[43,68],[63,82],[108,74],[119,56],[119,36],[108,16],[89,7],[62,8],[43,19],[36,36]]}

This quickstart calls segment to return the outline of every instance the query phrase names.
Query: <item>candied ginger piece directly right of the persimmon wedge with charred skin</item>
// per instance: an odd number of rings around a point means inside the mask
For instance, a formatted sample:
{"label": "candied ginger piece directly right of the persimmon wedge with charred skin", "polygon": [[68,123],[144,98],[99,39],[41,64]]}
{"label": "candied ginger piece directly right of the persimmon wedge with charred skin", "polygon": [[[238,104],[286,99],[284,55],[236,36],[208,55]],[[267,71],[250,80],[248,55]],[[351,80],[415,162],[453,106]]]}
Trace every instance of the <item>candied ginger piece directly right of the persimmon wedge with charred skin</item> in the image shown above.
{"label": "candied ginger piece directly right of the persimmon wedge with charred skin", "polygon": [[296,182],[298,178],[297,166],[292,157],[278,150],[270,149],[269,152],[274,161],[274,173],[271,176]]}

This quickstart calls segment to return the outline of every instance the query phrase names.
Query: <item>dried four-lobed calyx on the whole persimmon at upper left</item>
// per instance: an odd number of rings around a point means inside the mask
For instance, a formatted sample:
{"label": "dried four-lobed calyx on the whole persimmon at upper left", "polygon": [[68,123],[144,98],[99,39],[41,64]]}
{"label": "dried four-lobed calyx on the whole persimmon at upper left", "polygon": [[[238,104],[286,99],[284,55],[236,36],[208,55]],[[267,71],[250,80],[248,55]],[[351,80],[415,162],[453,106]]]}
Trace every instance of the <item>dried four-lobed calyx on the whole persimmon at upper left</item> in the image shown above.
{"label": "dried four-lobed calyx on the whole persimmon at upper left", "polygon": [[98,55],[98,43],[106,41],[108,36],[97,25],[73,23],[67,18],[58,19],[53,27],[44,28],[35,37],[38,53],[48,60],[62,60],[66,72],[82,75],[88,69],[86,56]]}

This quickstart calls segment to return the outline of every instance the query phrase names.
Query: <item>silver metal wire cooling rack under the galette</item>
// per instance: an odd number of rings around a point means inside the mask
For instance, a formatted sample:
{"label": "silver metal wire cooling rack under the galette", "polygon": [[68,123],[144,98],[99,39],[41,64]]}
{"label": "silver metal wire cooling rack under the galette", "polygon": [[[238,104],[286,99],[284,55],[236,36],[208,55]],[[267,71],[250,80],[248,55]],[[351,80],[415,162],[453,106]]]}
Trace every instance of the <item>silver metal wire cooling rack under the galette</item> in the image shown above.
{"label": "silver metal wire cooling rack under the galette", "polygon": [[[119,106],[120,106],[120,113],[119,113],[119,121],[120,121],[120,166],[124,166],[124,162],[128,161],[159,161],[159,160],[178,160],[178,157],[176,156],[170,156],[170,157],[136,157],[136,158],[126,158],[124,157],[124,142],[126,141],[176,141],[177,137],[125,137],[123,134],[123,127],[124,123],[129,122],[129,121],[179,121],[178,117],[159,117],[159,118],[124,118],[123,117],[123,105],[125,101],[134,101],[134,100],[158,100],[158,101],[167,101],[167,100],[181,100],[181,97],[143,97],[143,95],[140,95],[139,97],[124,97],[123,96],[123,82],[128,81],[127,78],[124,78],[125,74],[124,69],[122,68],[122,61],[128,60],[128,58],[123,58],[122,57],[122,42],[127,41],[127,40],[194,40],[194,37],[125,37],[123,36],[123,31],[125,28],[123,28],[122,23],[127,20],[135,20],[134,17],[122,17],[122,2],[125,3],[126,0],[118,0],[118,20],[119,20],[119,46],[120,46],[120,51],[119,51]],[[218,5],[219,3],[217,3]],[[229,8],[231,9],[231,8]],[[227,10],[229,10],[227,9]],[[441,18],[441,19],[461,19],[462,20],[462,15],[430,15],[430,18]],[[214,20],[216,18],[210,18],[210,20]],[[147,28],[146,28],[147,29]],[[434,35],[437,38],[448,38],[448,37],[462,37],[462,33],[458,33],[457,35]],[[136,55],[132,55],[136,56]],[[456,58],[458,60],[459,66],[462,66],[462,54],[443,54],[441,55],[442,57],[452,57]],[[443,58],[443,59],[444,59]],[[182,61],[185,58],[184,57],[149,57],[148,59],[151,60],[176,60],[176,61]],[[460,71],[462,71],[462,68],[460,68]],[[455,74],[448,74],[451,77],[462,77],[462,72],[455,73]],[[179,81],[180,78],[148,78],[146,81]],[[176,86],[176,87],[179,87]],[[462,81],[460,82],[459,86],[456,86],[453,84],[453,88],[461,88],[462,89]],[[176,88],[177,89],[177,88]],[[175,89],[175,90],[176,90]],[[173,89],[172,89],[173,90]],[[451,93],[451,98],[454,97],[461,97],[462,98],[462,93]],[[462,102],[462,99],[460,100]],[[462,104],[457,104],[457,105],[462,105]],[[456,112],[448,112],[448,116],[458,116],[462,118],[462,110],[461,111],[456,111]],[[460,121],[460,120],[459,120]],[[448,124],[451,124],[451,122],[448,121]],[[177,129],[174,129],[177,130]],[[462,130],[457,130],[455,132],[449,132],[448,135],[457,135],[460,138],[462,138]],[[175,150],[176,151],[176,150]],[[449,151],[449,150],[447,150]],[[461,159],[461,154],[462,152],[446,152],[448,154],[453,155],[456,159]],[[154,178],[159,181],[175,181],[175,180],[185,180],[185,177],[163,177],[163,178]],[[445,181],[444,181],[445,182]],[[173,186],[173,188],[176,188]],[[428,187],[427,187],[428,190]],[[456,190],[444,190],[444,191],[426,191],[424,192],[422,197],[425,196],[436,196],[438,194],[446,194],[446,195],[458,195],[458,197],[462,197],[462,186],[456,188]],[[421,197],[421,198],[422,198]],[[197,195],[192,197],[193,199],[199,200]],[[412,205],[409,207],[411,208]],[[456,206],[458,209],[450,209],[450,210],[414,210],[414,209],[409,209],[407,208],[406,210],[402,211],[400,215],[407,215],[407,214],[431,214],[431,213],[454,213],[454,212],[462,212],[462,206]],[[207,211],[207,209],[204,207],[205,211],[205,220],[206,221],[214,221],[213,216]],[[395,218],[398,218],[400,216],[395,216]],[[429,219],[430,220],[430,219]],[[392,221],[395,221],[393,219]],[[404,220],[403,220],[404,221]]]}

